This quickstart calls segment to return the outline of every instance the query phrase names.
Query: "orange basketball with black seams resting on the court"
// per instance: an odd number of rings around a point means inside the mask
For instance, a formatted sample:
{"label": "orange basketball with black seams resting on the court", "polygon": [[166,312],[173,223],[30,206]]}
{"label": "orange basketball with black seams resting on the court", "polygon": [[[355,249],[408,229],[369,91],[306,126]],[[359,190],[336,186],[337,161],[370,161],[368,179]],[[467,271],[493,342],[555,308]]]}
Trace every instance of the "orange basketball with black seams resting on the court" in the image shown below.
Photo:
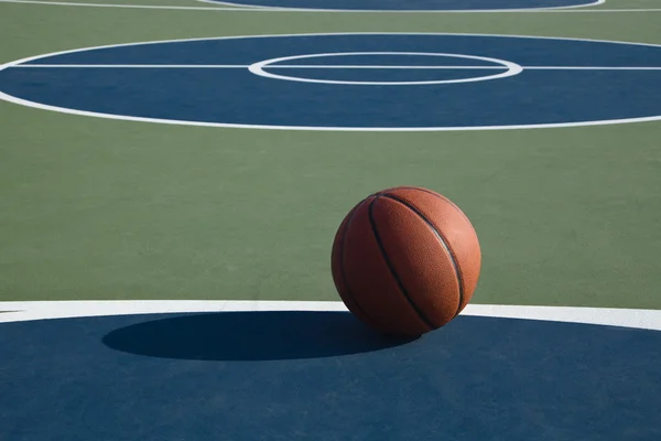
{"label": "orange basketball with black seams resting on the court", "polygon": [[349,212],[333,243],[344,303],[369,326],[421,335],[466,306],[479,277],[477,235],[464,213],[431,190],[375,193]]}

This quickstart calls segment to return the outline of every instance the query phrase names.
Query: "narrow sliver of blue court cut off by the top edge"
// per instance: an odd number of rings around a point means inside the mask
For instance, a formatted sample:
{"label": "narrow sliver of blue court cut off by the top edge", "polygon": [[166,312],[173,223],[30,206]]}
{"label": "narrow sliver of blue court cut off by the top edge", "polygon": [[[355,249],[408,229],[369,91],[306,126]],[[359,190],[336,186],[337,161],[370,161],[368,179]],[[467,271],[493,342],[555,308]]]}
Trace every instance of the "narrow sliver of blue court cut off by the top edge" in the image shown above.
{"label": "narrow sliver of blue court cut off by the top edge", "polygon": [[[214,0],[212,0],[214,1]],[[550,9],[600,3],[598,0],[238,0],[221,1],[266,8],[364,11],[457,11]]]}

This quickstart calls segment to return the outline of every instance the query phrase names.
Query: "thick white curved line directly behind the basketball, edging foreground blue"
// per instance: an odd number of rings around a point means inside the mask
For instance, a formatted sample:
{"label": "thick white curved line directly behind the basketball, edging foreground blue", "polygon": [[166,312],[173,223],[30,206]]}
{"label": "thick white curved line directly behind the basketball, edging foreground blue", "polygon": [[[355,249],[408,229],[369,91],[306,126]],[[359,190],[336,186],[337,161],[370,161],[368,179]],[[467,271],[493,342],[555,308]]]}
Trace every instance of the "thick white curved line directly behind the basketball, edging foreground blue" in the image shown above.
{"label": "thick white curved line directly behind the basketball, edging foreground blue", "polygon": [[[262,301],[262,300],[89,300],[0,302],[0,323],[87,316],[240,312],[240,311],[338,311],[347,309],[339,301]],[[462,315],[524,319],[564,323],[661,331],[661,310],[614,308],[528,306],[469,304]]]}

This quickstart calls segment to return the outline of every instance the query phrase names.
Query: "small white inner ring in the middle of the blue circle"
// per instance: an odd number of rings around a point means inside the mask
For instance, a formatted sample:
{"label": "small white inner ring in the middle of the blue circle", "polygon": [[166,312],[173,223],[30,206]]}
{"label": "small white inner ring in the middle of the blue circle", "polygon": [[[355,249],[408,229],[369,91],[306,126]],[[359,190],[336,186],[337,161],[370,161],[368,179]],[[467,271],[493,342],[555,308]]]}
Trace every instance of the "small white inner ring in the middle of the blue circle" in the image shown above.
{"label": "small white inner ring in the middle of the blue circle", "polygon": [[[456,78],[456,79],[430,79],[422,82],[350,82],[350,80],[338,80],[338,79],[316,79],[316,78],[304,78],[297,76],[290,75],[281,75],[274,74],[271,72],[264,71],[268,67],[278,67],[274,64],[281,62],[289,62],[292,60],[308,60],[308,58],[322,58],[322,57],[332,57],[332,56],[370,56],[370,55],[416,55],[416,56],[437,56],[437,57],[446,57],[446,58],[464,58],[464,60],[477,60],[483,62],[489,62],[492,64],[501,65],[503,68],[507,68],[506,72],[501,72],[494,75],[485,75],[477,77],[468,77],[468,78]],[[367,67],[367,66],[366,66]],[[324,68],[323,65],[319,65],[319,68]],[[438,66],[442,68],[442,66]],[[479,68],[479,67],[478,67]],[[516,63],[508,62],[505,60],[498,58],[489,58],[486,56],[476,56],[476,55],[464,55],[464,54],[448,54],[448,53],[427,53],[427,52],[330,52],[323,54],[306,54],[306,55],[292,55],[292,56],[282,56],[279,58],[264,60],[258,63],[253,63],[248,66],[248,71],[250,71],[254,75],[263,76],[267,78],[273,79],[283,79],[289,82],[300,82],[300,83],[319,83],[319,84],[344,84],[344,85],[364,85],[364,86],[420,86],[427,84],[457,84],[457,83],[474,83],[474,82],[485,82],[488,79],[497,79],[497,78],[506,78],[508,76],[518,75],[523,72],[523,68]]]}

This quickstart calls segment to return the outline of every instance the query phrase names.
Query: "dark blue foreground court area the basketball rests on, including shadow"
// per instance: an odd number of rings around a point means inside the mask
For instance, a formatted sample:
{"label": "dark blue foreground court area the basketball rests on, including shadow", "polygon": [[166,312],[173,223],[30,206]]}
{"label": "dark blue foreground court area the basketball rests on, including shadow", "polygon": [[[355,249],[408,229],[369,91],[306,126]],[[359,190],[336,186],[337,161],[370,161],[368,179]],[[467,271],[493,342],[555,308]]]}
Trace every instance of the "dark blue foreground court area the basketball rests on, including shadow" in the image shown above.
{"label": "dark blue foreground court area the basketball rests on, including shadow", "polygon": [[661,333],[459,316],[412,342],[342,312],[0,325],[0,438],[659,440]]}

